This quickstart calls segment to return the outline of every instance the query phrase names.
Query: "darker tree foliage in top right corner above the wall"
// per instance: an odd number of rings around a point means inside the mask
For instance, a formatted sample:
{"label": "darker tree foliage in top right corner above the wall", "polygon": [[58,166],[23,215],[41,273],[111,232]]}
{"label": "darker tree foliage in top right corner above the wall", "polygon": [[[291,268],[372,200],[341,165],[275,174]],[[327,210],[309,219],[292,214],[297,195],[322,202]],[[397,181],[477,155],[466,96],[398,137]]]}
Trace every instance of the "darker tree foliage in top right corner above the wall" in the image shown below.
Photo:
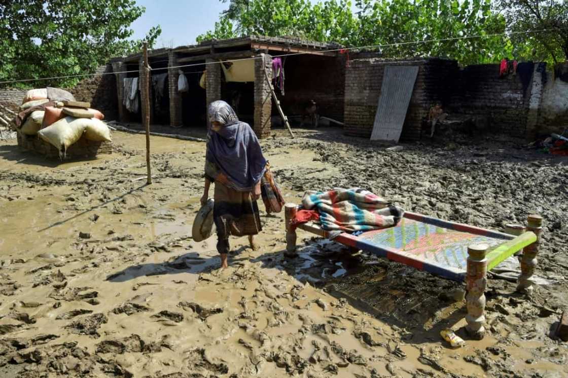
{"label": "darker tree foliage in top right corner above the wall", "polygon": [[[568,1],[501,0],[516,54],[555,63],[568,60]],[[538,31],[524,33],[524,31]]]}

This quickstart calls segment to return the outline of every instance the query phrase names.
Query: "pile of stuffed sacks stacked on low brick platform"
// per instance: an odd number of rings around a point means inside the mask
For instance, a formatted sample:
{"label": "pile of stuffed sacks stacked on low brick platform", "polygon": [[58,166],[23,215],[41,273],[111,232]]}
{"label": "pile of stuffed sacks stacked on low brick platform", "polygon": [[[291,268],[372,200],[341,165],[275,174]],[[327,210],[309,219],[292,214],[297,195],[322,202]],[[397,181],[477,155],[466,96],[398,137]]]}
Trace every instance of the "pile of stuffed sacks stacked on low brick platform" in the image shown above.
{"label": "pile of stuffed sacks stacked on low brick platform", "polygon": [[111,141],[105,116],[88,102],[77,102],[67,91],[41,88],[27,91],[20,106],[19,131],[39,135],[55,146],[61,158],[83,135],[87,140]]}

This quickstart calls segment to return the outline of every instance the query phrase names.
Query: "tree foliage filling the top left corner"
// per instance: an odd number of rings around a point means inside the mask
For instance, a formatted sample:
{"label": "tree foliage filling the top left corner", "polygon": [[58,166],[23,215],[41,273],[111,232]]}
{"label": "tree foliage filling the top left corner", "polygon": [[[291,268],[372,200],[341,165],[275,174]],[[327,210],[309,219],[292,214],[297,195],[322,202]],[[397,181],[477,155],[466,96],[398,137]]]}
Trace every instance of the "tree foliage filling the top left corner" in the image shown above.
{"label": "tree foliage filling the top left corner", "polygon": [[[112,56],[139,51],[133,0],[10,0],[0,3],[0,81],[92,73]],[[151,28],[150,46],[161,33]],[[72,85],[78,79],[25,83]]]}

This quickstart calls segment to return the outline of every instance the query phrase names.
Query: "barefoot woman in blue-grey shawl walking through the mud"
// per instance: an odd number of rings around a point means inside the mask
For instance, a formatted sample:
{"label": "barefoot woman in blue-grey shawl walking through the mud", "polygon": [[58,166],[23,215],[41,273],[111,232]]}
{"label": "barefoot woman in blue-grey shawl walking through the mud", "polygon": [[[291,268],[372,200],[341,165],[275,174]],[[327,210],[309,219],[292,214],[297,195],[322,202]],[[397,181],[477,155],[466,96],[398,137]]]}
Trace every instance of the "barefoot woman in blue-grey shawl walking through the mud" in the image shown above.
{"label": "barefoot woman in blue-grey shawl walking through the mud", "polygon": [[208,117],[211,128],[207,134],[205,188],[201,203],[207,202],[209,187],[214,182],[217,250],[221,267],[226,268],[229,236],[248,235],[250,247],[256,249],[253,235],[261,231],[256,200],[261,195],[260,180],[266,169],[266,159],[252,128],[239,121],[229,104],[212,102]]}

